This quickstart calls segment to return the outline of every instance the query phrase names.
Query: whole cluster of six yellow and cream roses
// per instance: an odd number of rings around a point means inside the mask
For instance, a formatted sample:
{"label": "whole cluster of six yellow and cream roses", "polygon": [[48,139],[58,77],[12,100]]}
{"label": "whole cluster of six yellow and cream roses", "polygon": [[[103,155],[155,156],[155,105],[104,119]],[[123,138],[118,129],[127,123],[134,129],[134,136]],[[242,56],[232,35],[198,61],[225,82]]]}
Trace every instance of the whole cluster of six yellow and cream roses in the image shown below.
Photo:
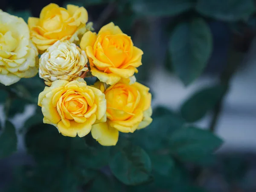
{"label": "whole cluster of six yellow and cream roses", "polygon": [[[152,121],[149,88],[133,76],[143,52],[113,23],[96,34],[87,20],[86,9],[74,5],[51,3],[28,25],[0,10],[0,82],[39,73],[49,86],[38,97],[44,123],[64,136],[91,132],[101,145],[116,145],[119,131],[134,132]],[[93,86],[83,79],[88,61],[99,79]]]}

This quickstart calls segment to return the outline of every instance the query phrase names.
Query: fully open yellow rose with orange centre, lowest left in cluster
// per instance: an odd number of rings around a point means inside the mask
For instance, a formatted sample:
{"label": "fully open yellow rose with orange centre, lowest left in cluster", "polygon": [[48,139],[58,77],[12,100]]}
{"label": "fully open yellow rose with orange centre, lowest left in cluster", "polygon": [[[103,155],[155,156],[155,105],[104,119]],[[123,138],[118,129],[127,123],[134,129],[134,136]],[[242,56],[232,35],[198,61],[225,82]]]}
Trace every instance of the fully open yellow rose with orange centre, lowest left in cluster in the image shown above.
{"label": "fully open yellow rose with orange centre, lowest left in cluster", "polygon": [[56,80],[39,94],[44,123],[55,125],[69,137],[84,137],[93,124],[106,121],[105,95],[97,88],[87,86],[83,79]]}

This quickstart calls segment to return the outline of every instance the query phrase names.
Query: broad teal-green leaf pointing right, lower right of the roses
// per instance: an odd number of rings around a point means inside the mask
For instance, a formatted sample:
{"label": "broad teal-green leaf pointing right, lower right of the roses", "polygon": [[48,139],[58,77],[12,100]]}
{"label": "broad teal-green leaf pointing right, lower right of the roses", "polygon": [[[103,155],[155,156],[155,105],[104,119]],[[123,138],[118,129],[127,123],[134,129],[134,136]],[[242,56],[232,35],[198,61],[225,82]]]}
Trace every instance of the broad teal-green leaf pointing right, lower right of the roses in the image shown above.
{"label": "broad teal-green leaf pointing right, lower right of the roses", "polygon": [[177,129],[170,137],[171,153],[183,161],[197,161],[212,154],[223,141],[209,132],[195,127]]}

